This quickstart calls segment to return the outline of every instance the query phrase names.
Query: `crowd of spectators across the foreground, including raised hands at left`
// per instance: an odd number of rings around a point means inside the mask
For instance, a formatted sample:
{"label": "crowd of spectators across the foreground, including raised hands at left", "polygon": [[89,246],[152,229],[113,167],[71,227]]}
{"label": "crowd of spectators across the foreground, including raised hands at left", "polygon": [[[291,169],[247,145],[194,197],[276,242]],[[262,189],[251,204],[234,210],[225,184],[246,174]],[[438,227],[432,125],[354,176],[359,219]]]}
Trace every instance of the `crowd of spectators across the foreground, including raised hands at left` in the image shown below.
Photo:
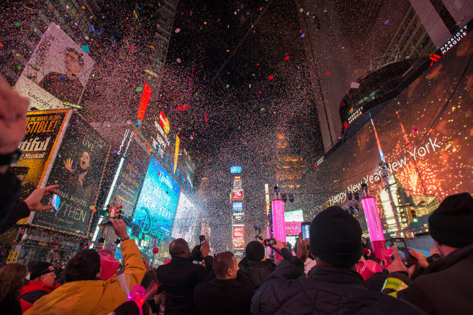
{"label": "crowd of spectators across the foreground, including raised hands at left", "polygon": [[[53,185],[18,199],[19,181],[8,167],[24,136],[27,106],[0,77],[0,233],[29,211],[51,209],[41,199],[60,194]],[[436,253],[426,257],[409,249],[412,266],[397,250],[380,261],[364,248],[358,220],[332,206],[313,218],[309,239],[299,235],[294,250],[276,240],[276,261],[260,241],[249,242],[237,262],[230,251],[211,256],[208,240],[191,250],[178,238],[169,245],[170,259],[153,268],[125,222],[111,219],[123,268],[101,278],[101,256],[90,248],[62,271],[46,261],[6,264],[0,268],[0,313],[473,314],[473,198],[446,197],[428,222]],[[373,272],[360,274],[364,265]]]}

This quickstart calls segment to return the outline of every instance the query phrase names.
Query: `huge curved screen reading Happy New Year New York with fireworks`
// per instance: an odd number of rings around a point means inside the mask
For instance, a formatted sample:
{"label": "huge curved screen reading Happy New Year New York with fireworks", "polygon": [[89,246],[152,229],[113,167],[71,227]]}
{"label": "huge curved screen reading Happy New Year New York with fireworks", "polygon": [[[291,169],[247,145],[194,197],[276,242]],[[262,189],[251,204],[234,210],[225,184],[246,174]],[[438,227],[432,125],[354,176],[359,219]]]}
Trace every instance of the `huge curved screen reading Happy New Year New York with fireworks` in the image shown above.
{"label": "huge curved screen reading Happy New Year New York with fireworks", "polygon": [[[395,230],[396,212],[401,229],[420,233],[428,231],[428,216],[446,196],[471,192],[473,67],[465,69],[471,40],[468,34],[314,170],[312,190],[324,193],[311,195],[314,210],[308,215],[344,205],[349,192],[361,191],[367,182],[383,233]],[[383,189],[382,158],[397,211]],[[418,223],[409,223],[411,210]],[[354,215],[367,231],[363,211]]]}

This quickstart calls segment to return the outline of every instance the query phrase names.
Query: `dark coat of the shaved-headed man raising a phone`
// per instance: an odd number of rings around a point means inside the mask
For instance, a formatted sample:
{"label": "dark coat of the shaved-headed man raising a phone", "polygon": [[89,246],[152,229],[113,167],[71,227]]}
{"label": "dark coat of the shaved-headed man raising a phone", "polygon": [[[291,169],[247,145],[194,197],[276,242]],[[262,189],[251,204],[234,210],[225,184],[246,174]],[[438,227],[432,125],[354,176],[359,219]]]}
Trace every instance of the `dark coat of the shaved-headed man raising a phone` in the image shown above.
{"label": "dark coat of the shaved-headed man raising a phone", "polygon": [[194,303],[194,288],[203,282],[212,269],[214,258],[204,258],[205,267],[194,264],[184,257],[174,257],[167,265],[156,269],[159,281],[166,293],[164,315],[199,314]]}

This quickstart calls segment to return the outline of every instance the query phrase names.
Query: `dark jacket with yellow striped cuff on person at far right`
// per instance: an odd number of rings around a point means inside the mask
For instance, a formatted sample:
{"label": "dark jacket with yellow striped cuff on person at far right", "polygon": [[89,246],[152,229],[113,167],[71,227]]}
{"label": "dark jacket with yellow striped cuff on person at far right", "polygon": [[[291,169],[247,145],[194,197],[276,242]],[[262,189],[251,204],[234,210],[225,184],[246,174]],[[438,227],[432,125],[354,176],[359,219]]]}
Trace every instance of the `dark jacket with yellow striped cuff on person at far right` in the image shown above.
{"label": "dark jacket with yellow striped cuff on person at far right", "polygon": [[412,282],[406,274],[390,274],[382,292],[415,304],[429,314],[473,314],[471,283],[473,244],[432,262]]}

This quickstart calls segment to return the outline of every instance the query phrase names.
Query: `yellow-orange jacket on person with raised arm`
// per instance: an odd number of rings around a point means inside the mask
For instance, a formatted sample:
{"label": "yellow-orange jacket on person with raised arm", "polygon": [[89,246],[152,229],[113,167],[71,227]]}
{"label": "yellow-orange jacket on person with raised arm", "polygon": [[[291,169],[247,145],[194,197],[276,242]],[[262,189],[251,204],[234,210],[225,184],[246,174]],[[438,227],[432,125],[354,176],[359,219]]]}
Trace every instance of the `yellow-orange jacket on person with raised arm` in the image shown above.
{"label": "yellow-orange jacket on person with raised arm", "polygon": [[132,239],[122,242],[125,271],[108,280],[67,282],[37,300],[24,315],[107,314],[127,301],[133,286],[146,272],[141,253]]}

